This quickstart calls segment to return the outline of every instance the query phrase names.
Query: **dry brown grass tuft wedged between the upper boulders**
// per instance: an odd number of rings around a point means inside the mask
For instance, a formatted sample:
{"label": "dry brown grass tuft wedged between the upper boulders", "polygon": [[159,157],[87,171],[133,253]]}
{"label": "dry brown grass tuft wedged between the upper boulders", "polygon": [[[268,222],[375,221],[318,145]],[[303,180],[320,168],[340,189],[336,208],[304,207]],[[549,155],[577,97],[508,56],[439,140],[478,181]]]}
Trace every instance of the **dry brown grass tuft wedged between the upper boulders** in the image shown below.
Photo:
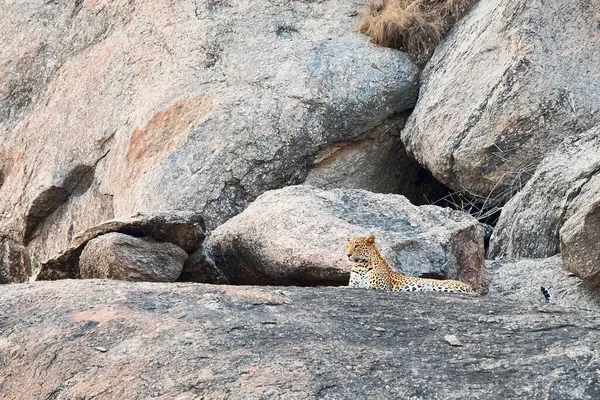
{"label": "dry brown grass tuft wedged between the upper boulders", "polygon": [[477,0],[369,0],[358,31],[424,62]]}

